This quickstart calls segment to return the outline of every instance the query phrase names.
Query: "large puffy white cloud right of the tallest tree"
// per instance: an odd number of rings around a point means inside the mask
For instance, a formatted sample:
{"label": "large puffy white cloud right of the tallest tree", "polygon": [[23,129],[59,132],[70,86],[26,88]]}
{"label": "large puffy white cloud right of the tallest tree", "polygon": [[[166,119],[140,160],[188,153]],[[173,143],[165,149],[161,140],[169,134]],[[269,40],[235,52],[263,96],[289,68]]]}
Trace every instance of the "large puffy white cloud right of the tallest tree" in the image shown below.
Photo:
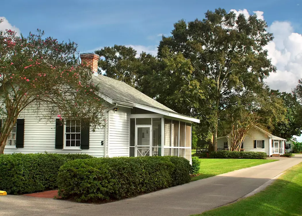
{"label": "large puffy white cloud right of the tallest tree", "polygon": [[302,35],[295,33],[290,22],[275,21],[268,31],[274,40],[265,47],[272,64],[277,67],[266,79],[271,89],[291,92],[302,78]]}

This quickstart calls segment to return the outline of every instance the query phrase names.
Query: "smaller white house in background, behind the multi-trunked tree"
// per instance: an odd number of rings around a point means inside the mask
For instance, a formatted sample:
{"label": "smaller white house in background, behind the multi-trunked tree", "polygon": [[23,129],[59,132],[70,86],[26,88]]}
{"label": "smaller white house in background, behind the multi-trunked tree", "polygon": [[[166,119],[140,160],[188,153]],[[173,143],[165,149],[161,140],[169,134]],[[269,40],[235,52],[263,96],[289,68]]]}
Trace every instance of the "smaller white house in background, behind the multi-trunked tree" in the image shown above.
{"label": "smaller white house in background, behind the multi-trunked tree", "polygon": [[[246,135],[241,149],[247,152],[266,152],[268,156],[284,154],[285,141],[286,139],[274,136],[255,126]],[[230,147],[230,138],[228,136],[217,139],[217,149],[230,149]]]}

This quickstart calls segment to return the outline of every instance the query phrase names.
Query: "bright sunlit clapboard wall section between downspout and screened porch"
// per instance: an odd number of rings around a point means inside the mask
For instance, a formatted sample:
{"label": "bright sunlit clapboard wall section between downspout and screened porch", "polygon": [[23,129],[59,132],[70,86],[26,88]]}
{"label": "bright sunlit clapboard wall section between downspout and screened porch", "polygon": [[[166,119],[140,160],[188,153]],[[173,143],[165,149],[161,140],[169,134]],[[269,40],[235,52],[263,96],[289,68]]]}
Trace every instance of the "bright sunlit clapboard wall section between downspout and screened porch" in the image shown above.
{"label": "bright sunlit clapboard wall section between downspout and screened porch", "polygon": [[130,108],[109,111],[109,157],[129,156]]}

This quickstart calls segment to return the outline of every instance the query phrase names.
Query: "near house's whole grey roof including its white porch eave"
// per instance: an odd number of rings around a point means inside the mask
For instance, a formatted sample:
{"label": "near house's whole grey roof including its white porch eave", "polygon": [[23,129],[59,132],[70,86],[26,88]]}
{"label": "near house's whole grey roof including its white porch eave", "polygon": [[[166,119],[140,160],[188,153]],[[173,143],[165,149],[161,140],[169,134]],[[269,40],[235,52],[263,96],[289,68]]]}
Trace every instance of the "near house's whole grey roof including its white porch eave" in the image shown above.
{"label": "near house's whole grey roof including its white porch eave", "polygon": [[103,99],[108,101],[109,103],[118,103],[120,105],[126,105],[130,107],[138,107],[166,116],[186,119],[197,123],[200,122],[199,119],[195,119],[190,116],[185,116],[175,112],[169,107],[157,102],[156,100],[145,95],[144,93],[141,93],[139,90],[122,81],[115,80],[100,74],[98,74],[97,76],[92,76],[92,81],[93,83],[98,84],[99,90],[101,94],[103,94]]}

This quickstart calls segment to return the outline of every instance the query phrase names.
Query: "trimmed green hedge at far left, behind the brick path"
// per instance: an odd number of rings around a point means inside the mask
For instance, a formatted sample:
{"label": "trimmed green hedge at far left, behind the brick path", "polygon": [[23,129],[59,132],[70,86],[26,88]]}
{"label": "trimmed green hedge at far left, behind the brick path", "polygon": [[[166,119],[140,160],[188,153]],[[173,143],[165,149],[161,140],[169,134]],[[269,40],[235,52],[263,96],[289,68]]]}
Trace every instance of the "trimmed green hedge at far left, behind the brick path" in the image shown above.
{"label": "trimmed green hedge at far left, behind the brick path", "polygon": [[86,154],[0,155],[0,189],[8,194],[34,193],[57,188],[59,168],[74,159],[92,158]]}

